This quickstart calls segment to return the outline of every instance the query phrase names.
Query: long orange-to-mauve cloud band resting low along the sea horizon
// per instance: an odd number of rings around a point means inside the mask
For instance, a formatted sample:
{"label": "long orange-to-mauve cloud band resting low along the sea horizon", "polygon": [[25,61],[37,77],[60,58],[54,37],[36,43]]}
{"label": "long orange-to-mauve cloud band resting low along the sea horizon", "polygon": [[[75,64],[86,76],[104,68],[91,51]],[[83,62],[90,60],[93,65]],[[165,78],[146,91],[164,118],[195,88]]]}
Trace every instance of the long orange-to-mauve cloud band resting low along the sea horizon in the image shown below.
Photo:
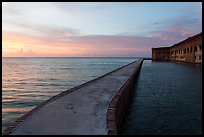
{"label": "long orange-to-mauve cloud band resting low along the sea horizon", "polygon": [[[151,47],[157,41],[150,37],[108,35],[71,36],[64,41],[50,41],[18,32],[3,32],[3,47],[8,51],[17,50],[15,55],[22,54],[20,56],[150,56]],[[33,53],[25,52],[28,48]]]}

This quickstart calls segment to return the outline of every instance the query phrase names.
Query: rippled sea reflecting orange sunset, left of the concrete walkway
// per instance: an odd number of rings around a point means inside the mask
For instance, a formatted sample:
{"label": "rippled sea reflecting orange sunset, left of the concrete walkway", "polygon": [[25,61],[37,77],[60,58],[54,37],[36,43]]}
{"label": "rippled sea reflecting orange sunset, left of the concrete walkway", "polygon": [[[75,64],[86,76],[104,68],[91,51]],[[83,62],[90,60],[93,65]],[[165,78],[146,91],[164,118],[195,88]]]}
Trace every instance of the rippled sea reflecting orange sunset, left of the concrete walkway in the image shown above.
{"label": "rippled sea reflecting orange sunset, left of the concrete walkway", "polygon": [[62,91],[138,58],[2,58],[2,131]]}

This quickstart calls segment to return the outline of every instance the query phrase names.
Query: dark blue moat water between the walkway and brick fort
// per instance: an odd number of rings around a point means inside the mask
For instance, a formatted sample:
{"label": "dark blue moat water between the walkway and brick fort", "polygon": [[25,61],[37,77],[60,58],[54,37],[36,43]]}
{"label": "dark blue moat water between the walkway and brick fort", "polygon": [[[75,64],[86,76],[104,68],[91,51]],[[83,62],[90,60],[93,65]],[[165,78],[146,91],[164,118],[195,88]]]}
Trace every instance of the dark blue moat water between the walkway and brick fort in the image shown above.
{"label": "dark blue moat water between the walkway and brick fort", "polygon": [[202,66],[144,61],[123,135],[201,135]]}

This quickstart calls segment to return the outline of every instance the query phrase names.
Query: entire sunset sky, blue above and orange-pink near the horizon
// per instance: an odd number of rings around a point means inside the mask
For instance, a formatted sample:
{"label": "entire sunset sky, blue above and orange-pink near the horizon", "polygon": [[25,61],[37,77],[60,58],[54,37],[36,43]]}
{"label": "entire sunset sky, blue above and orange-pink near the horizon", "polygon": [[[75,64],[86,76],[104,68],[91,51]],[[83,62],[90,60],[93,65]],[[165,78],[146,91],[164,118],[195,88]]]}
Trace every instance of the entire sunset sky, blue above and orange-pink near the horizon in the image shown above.
{"label": "entire sunset sky, blue above and orange-pink near the horizon", "polygon": [[202,2],[3,2],[3,57],[151,57],[202,32]]}

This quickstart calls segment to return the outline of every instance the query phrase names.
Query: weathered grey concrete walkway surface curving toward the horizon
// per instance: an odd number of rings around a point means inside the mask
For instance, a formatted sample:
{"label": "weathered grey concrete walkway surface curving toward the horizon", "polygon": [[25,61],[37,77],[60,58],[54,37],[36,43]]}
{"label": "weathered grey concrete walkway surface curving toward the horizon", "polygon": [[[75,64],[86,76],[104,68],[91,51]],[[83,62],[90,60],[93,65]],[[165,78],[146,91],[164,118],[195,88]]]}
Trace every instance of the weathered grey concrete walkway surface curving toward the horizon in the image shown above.
{"label": "weathered grey concrete walkway surface curving toward the horizon", "polygon": [[45,101],[4,134],[107,135],[108,106],[140,64],[130,63]]}

